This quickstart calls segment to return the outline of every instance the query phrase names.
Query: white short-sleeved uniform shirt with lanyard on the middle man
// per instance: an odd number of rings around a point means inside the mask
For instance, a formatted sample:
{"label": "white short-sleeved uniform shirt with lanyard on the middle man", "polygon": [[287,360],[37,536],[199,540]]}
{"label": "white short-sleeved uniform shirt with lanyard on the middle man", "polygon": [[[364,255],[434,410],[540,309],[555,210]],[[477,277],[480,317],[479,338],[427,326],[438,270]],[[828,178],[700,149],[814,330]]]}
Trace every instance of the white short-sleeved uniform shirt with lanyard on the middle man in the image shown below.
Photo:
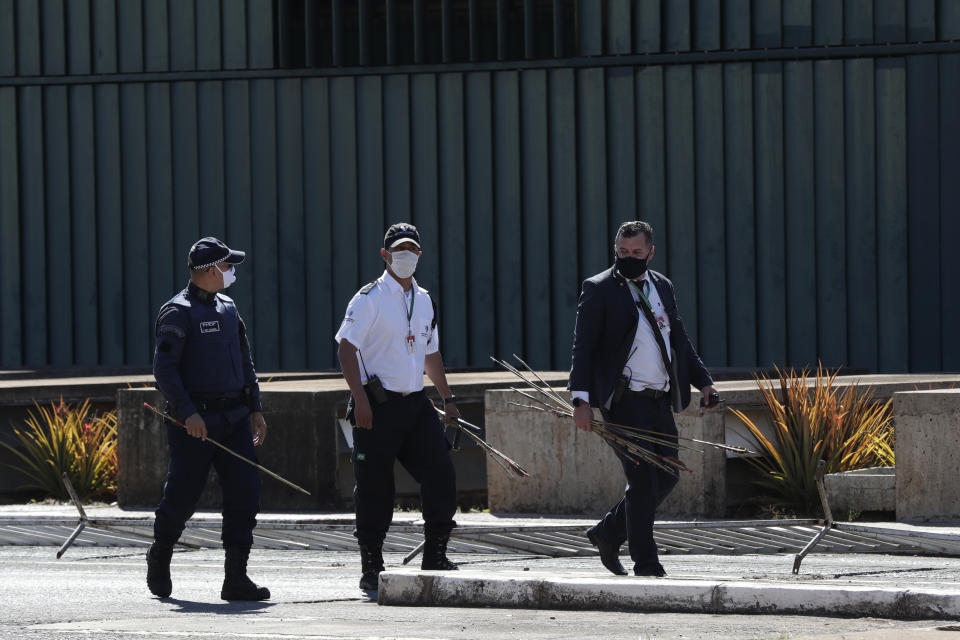
{"label": "white short-sleeved uniform shirt with lanyard on the middle man", "polygon": [[[364,287],[366,289],[366,287]],[[412,393],[423,389],[423,363],[439,350],[439,331],[433,324],[433,305],[426,289],[416,279],[409,291],[387,271],[363,293],[358,291],[340,324],[334,340],[347,340],[357,348],[357,364],[364,384],[377,376],[385,389]],[[413,313],[407,314],[413,300]],[[413,349],[407,336],[413,336]]]}

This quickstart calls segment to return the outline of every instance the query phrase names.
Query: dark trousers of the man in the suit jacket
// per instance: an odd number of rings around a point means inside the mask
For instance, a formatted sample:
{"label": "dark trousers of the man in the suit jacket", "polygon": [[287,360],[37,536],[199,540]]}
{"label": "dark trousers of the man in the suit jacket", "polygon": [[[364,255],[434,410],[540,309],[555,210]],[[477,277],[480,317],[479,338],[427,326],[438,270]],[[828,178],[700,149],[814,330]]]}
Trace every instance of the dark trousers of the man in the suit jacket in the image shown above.
{"label": "dark trousers of the man in the suit jacket", "polygon": [[[677,435],[669,395],[648,398],[626,393],[618,404],[605,412],[605,416],[609,422],[616,424]],[[638,441],[637,444],[664,456],[677,457],[676,446],[644,441]],[[619,453],[617,457],[627,476],[627,489],[620,501],[600,521],[598,531],[611,543],[619,545],[626,541],[635,565],[658,562],[657,544],[653,539],[654,512],[676,486],[678,478],[646,462],[635,463]]]}

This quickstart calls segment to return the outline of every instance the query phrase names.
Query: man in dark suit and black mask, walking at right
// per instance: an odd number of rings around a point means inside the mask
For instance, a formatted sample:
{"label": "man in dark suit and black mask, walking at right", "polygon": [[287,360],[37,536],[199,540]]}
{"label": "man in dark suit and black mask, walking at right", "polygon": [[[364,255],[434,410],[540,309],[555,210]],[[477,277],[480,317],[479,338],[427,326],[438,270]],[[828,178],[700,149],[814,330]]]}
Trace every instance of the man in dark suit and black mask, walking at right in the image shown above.
{"label": "man in dark suit and black mask, walking at right", "polygon": [[[654,249],[653,227],[625,222],[614,240],[616,264],[584,280],[568,388],[577,427],[592,430],[592,409],[598,408],[608,422],[663,434],[673,444],[637,444],[676,458],[671,409],[683,411],[690,403],[691,383],[713,400],[711,407],[718,396],[683,328],[673,283],[647,268]],[[634,575],[664,576],[653,538],[654,512],[678,478],[621,451],[617,456],[627,476],[626,492],[587,537],[614,574],[627,574],[618,557],[627,541]]]}

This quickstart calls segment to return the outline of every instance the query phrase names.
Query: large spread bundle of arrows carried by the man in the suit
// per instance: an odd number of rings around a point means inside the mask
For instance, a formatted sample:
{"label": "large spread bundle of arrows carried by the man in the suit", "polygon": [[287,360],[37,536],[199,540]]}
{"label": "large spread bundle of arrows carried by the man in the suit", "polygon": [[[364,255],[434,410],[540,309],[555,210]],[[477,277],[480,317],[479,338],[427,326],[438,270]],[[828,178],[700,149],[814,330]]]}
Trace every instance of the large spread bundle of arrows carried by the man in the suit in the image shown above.
{"label": "large spread bundle of arrows carried by the man in the suit", "polygon": [[[550,413],[561,418],[572,419],[573,405],[570,404],[570,401],[565,396],[552,389],[550,385],[547,384],[544,379],[530,367],[530,365],[520,358],[520,356],[513,354],[513,357],[516,358],[517,362],[519,362],[524,368],[524,371],[521,371],[517,367],[504,360],[498,360],[497,358],[491,359],[507,371],[513,373],[518,378],[523,380],[523,382],[530,388],[529,391],[518,389],[516,387],[511,387],[511,389],[529,399],[534,404],[524,404],[519,402],[511,402],[510,404],[522,407],[524,409]],[[675,475],[679,475],[681,471],[686,471],[688,473],[693,472],[679,459],[651,451],[651,448],[655,447],[656,445],[660,445],[669,447],[671,449],[676,448],[678,450],[703,453],[703,449],[694,446],[701,445],[734,453],[751,453],[749,449],[744,447],[721,444],[718,442],[709,442],[707,440],[698,440],[696,438],[687,438],[681,435],[660,433],[650,429],[615,424],[605,420],[594,419],[591,422],[591,427],[593,433],[603,438],[604,441],[613,447],[614,451],[616,451],[623,458],[637,464],[641,462],[650,464],[658,469],[662,469]],[[644,446],[644,444],[647,446]]]}

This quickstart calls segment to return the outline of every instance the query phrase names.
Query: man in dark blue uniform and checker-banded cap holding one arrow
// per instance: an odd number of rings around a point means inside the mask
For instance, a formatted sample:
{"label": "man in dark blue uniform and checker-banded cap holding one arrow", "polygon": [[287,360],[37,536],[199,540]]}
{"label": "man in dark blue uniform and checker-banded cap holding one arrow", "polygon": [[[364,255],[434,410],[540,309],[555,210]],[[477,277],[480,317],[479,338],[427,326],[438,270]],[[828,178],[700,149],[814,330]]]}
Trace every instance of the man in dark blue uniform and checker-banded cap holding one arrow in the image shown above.
{"label": "man in dark blue uniform and checker-banded cap holding one arrow", "polygon": [[156,510],[154,543],[147,553],[147,586],[170,595],[173,545],[193,515],[210,465],[223,491],[226,552],[224,600],[266,600],[270,591],[247,577],[253,528],[260,510],[260,476],[251,465],[205,442],[207,435],[250,460],[263,444],[267,423],[250,357],[246,327],[233,300],[219,293],[236,280],[244,252],[202,238],[187,259],[190,284],[160,308],[153,375],[167,400],[170,468]]}

